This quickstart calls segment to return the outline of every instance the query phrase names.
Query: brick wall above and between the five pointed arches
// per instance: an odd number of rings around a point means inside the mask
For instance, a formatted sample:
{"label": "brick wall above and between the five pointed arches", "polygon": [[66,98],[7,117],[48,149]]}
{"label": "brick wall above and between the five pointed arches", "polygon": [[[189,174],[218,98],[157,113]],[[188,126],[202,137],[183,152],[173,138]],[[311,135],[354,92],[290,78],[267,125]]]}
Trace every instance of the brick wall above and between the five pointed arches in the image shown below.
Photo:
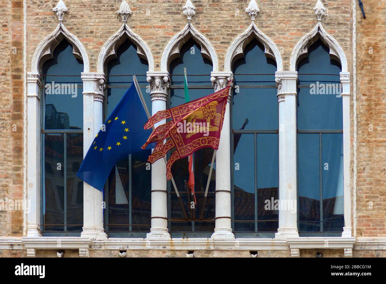
{"label": "brick wall above and between the five pointed arches", "polygon": [[[90,59],[90,71],[96,71],[99,51],[107,39],[121,26],[117,10],[121,0],[66,0],[69,9],[64,16],[66,28],[85,46]],[[127,24],[147,43],[159,70],[166,44],[186,24],[182,14],[185,0],[129,0],[132,15]],[[316,0],[259,0],[260,13],[256,24],[282,50],[284,70],[289,69],[289,58],[299,39],[317,23],[314,14]],[[58,24],[52,12],[56,0],[27,0],[27,67],[37,44]],[[223,70],[227,49],[234,39],[251,24],[244,0],[195,0],[196,15],[192,23],[212,43]],[[347,61],[351,61],[351,0],[323,1],[328,8],[323,26],[343,47]]]}

